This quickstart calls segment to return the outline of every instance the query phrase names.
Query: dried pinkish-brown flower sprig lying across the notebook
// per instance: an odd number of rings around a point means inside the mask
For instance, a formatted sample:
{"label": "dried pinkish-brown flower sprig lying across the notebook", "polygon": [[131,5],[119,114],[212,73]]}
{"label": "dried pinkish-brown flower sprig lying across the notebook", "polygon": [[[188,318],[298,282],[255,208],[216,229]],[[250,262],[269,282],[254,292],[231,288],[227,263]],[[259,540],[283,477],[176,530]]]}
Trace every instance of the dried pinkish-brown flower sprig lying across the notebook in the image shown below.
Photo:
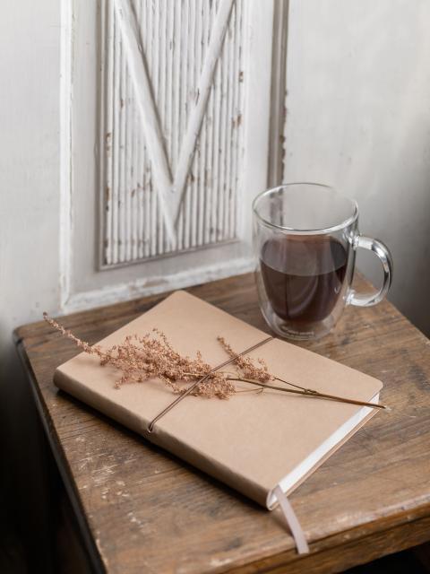
{"label": "dried pinkish-brown flower sprig lying across the notebook", "polygon": [[[159,378],[178,395],[205,396],[208,398],[216,396],[220,399],[228,399],[236,392],[243,392],[237,391],[233,384],[234,381],[241,381],[258,387],[258,391],[267,388],[295,395],[388,409],[383,404],[366,403],[356,399],[327,395],[275,377],[269,371],[265,361],[257,359],[258,365],[256,365],[251,357],[245,356],[245,352],[237,354],[222,336],[218,337],[218,341],[230,357],[230,361],[226,361],[224,364],[235,363],[237,375],[228,371],[213,370],[209,363],[203,361],[202,353],[199,351],[196,352],[195,359],[182,356],[175,351],[167,336],[157,328],[152,329],[155,336],[150,336],[149,333],[143,336],[127,335],[122,344],[113,345],[103,350],[99,345],[90,345],[82,341],[70,330],[48,317],[47,313],[44,313],[43,317],[50,326],[73,341],[83,352],[99,357],[100,365],[111,365],[119,370],[122,375],[116,381],[116,388],[125,383],[142,383],[146,380]],[[271,383],[276,380],[296,388],[272,385]],[[192,384],[185,387],[184,384],[186,383]]]}

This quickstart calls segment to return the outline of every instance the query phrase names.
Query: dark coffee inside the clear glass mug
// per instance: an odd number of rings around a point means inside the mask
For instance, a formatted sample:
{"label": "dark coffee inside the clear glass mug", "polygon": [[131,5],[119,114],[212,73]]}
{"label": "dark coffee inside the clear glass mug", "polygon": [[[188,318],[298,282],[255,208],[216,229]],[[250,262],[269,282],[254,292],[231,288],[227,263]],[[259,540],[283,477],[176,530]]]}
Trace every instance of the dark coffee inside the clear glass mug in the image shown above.
{"label": "dark coffee inside the clear glass mug", "polygon": [[262,245],[260,262],[273,311],[297,327],[329,317],[342,296],[348,253],[335,238],[274,237]]}

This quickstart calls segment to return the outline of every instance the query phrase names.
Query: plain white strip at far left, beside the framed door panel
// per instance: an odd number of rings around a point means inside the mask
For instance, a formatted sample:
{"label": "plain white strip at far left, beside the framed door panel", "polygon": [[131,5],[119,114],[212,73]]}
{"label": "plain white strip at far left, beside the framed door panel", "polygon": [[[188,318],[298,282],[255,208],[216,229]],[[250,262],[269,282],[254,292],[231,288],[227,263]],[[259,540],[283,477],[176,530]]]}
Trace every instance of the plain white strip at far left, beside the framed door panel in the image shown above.
{"label": "plain white strip at far left, beside the framed door panel", "polygon": [[60,12],[0,8],[0,365],[14,326],[58,306]]}

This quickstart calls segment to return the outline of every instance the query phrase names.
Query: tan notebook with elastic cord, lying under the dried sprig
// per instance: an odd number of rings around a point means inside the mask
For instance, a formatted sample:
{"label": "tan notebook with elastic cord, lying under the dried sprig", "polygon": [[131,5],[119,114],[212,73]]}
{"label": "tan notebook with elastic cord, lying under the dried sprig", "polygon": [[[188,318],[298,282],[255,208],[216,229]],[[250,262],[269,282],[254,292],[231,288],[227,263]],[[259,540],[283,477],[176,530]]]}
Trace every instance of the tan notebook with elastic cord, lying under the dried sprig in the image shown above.
{"label": "tan notebook with elastic cord, lying under the dried sprig", "polygon": [[[167,335],[177,352],[194,357],[200,351],[214,367],[228,359],[218,335],[235,352],[267,338],[254,326],[176,291],[100,344],[120,344],[126,335],[145,335],[153,327]],[[377,403],[383,387],[375,378],[280,339],[249,356],[262,358],[280,378],[331,395]],[[115,369],[101,367],[97,357],[82,352],[58,367],[54,380],[57,387],[268,509],[280,501],[277,492],[293,491],[375,412],[271,390],[228,400],[186,396],[150,433],[150,422],[176,396],[156,380],[116,389],[117,378]]]}

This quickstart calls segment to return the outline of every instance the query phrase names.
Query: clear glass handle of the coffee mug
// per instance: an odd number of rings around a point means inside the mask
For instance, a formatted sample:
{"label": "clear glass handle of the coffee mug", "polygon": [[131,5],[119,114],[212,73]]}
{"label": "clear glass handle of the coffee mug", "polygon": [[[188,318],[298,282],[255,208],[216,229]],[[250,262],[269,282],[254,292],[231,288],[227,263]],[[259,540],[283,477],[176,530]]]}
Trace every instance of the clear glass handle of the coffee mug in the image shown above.
{"label": "clear glass handle of the coffee mug", "polygon": [[371,307],[383,300],[392,282],[392,257],[390,250],[379,239],[371,239],[364,235],[356,235],[353,240],[352,248],[369,249],[373,251],[383,264],[383,284],[379,291],[365,295],[357,295],[357,291],[351,289],[348,293],[347,305],[357,305],[357,307]]}

